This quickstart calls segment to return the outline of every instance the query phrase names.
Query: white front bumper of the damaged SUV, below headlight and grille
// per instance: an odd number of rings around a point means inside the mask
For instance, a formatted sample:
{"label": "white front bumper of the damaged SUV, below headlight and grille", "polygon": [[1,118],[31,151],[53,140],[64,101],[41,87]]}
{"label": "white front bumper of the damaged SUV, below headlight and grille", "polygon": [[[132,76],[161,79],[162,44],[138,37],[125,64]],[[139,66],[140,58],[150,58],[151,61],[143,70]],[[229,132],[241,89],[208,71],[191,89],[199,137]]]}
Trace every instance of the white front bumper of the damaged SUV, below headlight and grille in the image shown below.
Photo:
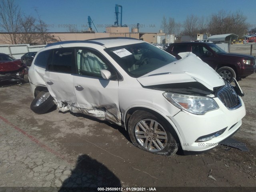
{"label": "white front bumper of the damaged SUV, below headlight and grille", "polygon": [[[218,98],[214,98],[220,108],[204,115],[194,115],[180,111],[174,117],[169,117],[175,124],[180,143],[186,151],[205,151],[218,146],[222,140],[232,136],[242,125],[242,118],[246,114],[244,102],[240,108],[228,110]],[[219,136],[205,142],[196,142],[198,138],[214,134],[224,129]]]}

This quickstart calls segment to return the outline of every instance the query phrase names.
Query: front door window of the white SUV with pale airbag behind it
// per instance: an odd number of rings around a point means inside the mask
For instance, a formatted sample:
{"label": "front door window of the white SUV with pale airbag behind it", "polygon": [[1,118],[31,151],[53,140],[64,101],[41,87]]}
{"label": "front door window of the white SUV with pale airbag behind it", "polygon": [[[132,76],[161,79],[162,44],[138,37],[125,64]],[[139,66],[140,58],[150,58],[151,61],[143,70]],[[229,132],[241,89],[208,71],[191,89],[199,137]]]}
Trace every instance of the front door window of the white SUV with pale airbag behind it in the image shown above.
{"label": "front door window of the white SUV with pale airbag behind it", "polygon": [[116,80],[115,70],[97,52],[89,49],[76,49],[77,74],[102,78],[100,70],[109,70],[112,74],[111,80]]}

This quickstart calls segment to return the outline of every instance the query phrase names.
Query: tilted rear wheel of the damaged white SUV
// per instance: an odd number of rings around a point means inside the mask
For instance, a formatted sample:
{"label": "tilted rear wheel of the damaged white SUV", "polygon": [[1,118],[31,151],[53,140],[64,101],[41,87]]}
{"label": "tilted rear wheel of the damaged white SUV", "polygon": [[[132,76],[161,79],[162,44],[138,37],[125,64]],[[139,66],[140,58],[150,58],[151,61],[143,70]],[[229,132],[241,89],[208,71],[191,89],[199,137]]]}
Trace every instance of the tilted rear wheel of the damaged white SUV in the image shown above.
{"label": "tilted rear wheel of the damaged white SUV", "polygon": [[49,92],[41,91],[30,104],[30,109],[37,114],[44,114],[55,105],[53,101]]}

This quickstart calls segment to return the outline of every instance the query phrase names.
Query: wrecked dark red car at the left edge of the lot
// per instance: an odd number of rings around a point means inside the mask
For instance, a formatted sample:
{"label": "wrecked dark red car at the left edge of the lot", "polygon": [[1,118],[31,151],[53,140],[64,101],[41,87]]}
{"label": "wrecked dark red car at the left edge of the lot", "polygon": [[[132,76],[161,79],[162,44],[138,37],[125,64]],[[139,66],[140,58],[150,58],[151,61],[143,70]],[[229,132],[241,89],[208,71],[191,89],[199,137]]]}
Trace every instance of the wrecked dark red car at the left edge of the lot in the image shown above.
{"label": "wrecked dark red car at the left edge of the lot", "polygon": [[7,54],[0,53],[0,82],[21,83],[24,81],[25,74],[28,74],[26,64],[20,59],[16,60]]}

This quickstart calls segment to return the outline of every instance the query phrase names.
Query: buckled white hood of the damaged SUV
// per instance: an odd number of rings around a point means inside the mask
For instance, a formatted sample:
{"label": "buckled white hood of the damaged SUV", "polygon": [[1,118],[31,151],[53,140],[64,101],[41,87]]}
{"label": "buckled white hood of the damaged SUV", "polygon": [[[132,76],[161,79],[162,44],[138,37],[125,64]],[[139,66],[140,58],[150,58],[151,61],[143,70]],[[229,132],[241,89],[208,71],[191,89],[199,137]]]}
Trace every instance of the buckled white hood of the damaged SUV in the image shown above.
{"label": "buckled white hood of the damaged SUV", "polygon": [[220,75],[208,64],[189,53],[186,57],[137,78],[142,86],[199,82],[209,90],[225,84]]}

